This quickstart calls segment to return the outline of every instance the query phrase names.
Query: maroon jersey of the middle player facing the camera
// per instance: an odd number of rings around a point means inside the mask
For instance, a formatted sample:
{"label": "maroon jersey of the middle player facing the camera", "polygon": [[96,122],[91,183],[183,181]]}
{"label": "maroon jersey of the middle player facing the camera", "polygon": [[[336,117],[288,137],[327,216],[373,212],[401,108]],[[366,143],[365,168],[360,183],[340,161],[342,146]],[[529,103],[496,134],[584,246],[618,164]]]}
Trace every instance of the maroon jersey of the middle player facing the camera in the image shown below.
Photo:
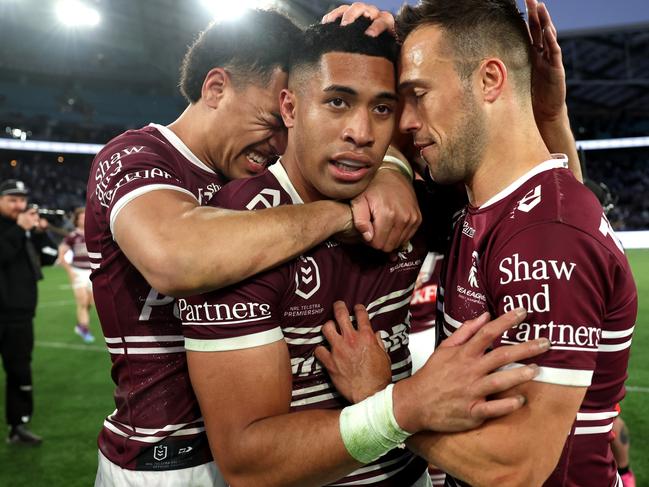
{"label": "maroon jersey of the middle player facing the camera", "polygon": [[[235,181],[215,198],[219,206],[260,209],[302,203],[281,163],[265,174]],[[349,403],[316,361],[325,343],[322,325],[333,303],[362,303],[392,360],[394,381],[410,375],[408,306],[422,260],[423,242],[391,259],[366,246],[327,241],[299,258],[219,291],[178,300],[188,350],[237,350],[285,340],[291,358],[291,410],[340,409]],[[426,470],[407,450],[394,450],[334,485],[405,487]]]}

